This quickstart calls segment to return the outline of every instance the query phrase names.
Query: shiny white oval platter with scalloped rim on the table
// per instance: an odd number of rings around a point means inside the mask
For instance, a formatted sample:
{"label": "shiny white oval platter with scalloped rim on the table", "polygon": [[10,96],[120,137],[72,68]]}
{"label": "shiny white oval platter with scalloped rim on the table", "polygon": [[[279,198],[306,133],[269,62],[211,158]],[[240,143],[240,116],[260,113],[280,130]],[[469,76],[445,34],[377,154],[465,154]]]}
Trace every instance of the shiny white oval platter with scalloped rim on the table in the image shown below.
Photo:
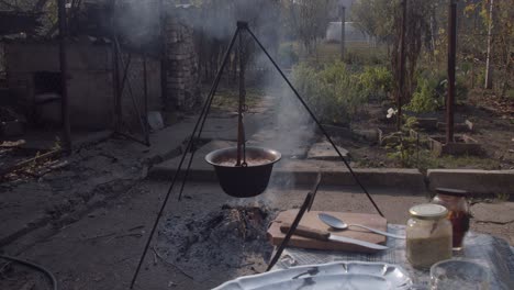
{"label": "shiny white oval platter with scalloped rim on the table", "polygon": [[214,290],[406,290],[411,286],[411,278],[396,265],[335,261],[241,277]]}

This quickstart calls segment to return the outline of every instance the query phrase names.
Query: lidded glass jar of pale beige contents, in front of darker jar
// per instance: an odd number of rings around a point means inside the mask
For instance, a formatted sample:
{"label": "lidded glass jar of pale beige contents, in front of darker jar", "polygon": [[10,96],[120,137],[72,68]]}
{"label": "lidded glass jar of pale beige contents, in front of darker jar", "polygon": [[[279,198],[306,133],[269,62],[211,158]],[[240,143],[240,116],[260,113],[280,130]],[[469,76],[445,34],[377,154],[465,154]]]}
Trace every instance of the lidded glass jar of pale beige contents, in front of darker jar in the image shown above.
{"label": "lidded glass jar of pale beige contents, in front of darker jar", "polygon": [[411,219],[406,232],[406,258],[414,268],[429,268],[451,258],[451,223],[445,219],[448,210],[439,204],[425,203],[409,210]]}

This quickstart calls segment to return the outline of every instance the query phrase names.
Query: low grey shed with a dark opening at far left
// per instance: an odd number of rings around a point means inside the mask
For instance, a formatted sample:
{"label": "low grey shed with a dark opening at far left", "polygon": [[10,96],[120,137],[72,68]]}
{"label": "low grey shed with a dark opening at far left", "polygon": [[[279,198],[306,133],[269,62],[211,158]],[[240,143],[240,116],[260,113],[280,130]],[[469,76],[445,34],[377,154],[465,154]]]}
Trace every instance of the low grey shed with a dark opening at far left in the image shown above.
{"label": "low grey shed with a dark opening at far left", "polygon": [[[31,121],[60,123],[60,71],[58,42],[16,40],[4,44],[7,82],[11,96],[21,104]],[[127,76],[143,71],[141,56],[131,62]],[[68,46],[68,94],[70,123],[79,130],[112,129],[114,122],[114,85],[111,44],[81,37]],[[147,58],[148,102],[150,110],[160,109],[160,63]],[[141,82],[141,78],[131,81]],[[132,87],[143,88],[142,83]],[[125,113],[132,100],[122,99]],[[158,107],[158,108],[155,108]],[[130,116],[124,121],[132,123]]]}

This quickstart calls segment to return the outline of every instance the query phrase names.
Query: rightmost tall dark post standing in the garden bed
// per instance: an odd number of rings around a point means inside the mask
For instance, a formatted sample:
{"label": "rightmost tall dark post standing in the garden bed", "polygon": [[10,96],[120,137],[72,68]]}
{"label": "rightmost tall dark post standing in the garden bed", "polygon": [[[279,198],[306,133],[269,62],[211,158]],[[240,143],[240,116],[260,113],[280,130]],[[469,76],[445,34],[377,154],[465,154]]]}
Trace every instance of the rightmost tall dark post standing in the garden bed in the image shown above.
{"label": "rightmost tall dark post standing in the garden bed", "polygon": [[455,58],[457,54],[457,3],[448,10],[448,97],[446,98],[446,143],[454,142]]}

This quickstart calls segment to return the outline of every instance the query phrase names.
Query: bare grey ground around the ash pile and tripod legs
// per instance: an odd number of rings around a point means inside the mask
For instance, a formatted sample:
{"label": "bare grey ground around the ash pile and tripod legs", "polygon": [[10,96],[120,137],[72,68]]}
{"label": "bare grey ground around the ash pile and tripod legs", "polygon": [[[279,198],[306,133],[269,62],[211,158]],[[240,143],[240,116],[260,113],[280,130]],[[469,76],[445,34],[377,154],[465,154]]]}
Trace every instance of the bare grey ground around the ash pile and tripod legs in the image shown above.
{"label": "bare grey ground around the ash pile and tripod legs", "polygon": [[[20,253],[20,257],[37,261],[54,272],[60,289],[127,289],[137,265],[144,243],[154,216],[168,183],[142,182],[122,196],[119,200],[92,210],[83,219],[59,228],[45,227],[24,236],[18,243],[3,248],[8,253]],[[176,194],[164,214],[158,234],[148,252],[135,289],[210,289],[225,280],[242,275],[261,272],[266,269],[269,252],[237,253],[227,250],[226,257],[235,264],[203,264],[208,257],[197,259],[197,269],[187,267],[188,263],[178,260],[178,256],[166,256],[166,247],[192,237],[194,230],[180,231],[180,220],[197,216],[201,221],[205,213],[221,211],[223,204],[254,205],[269,203],[270,210],[278,211],[298,208],[308,189],[272,189],[257,199],[236,200],[222,193],[215,183],[190,183],[187,198],[177,202]],[[322,188],[313,210],[346,210],[370,212],[372,207],[357,189]],[[375,191],[377,192],[377,191]],[[392,194],[392,196],[390,196]],[[423,194],[405,197],[401,202],[394,199],[405,193],[382,191],[377,194],[378,202],[387,208],[390,222],[404,223],[406,208],[425,200]],[[334,201],[340,202],[334,202]],[[346,202],[344,202],[346,200]],[[400,213],[400,214],[398,214]],[[175,225],[175,235],[169,235],[169,225]],[[169,238],[172,237],[171,241]],[[174,239],[175,238],[175,239]],[[222,246],[233,245],[232,239]],[[194,242],[191,241],[191,244]],[[264,245],[267,245],[264,243]],[[269,246],[269,245],[268,245]],[[4,264],[0,264],[4,266]],[[24,267],[9,265],[0,279],[1,289],[23,289],[26,283],[41,278]],[[47,289],[37,285],[34,290]]]}

